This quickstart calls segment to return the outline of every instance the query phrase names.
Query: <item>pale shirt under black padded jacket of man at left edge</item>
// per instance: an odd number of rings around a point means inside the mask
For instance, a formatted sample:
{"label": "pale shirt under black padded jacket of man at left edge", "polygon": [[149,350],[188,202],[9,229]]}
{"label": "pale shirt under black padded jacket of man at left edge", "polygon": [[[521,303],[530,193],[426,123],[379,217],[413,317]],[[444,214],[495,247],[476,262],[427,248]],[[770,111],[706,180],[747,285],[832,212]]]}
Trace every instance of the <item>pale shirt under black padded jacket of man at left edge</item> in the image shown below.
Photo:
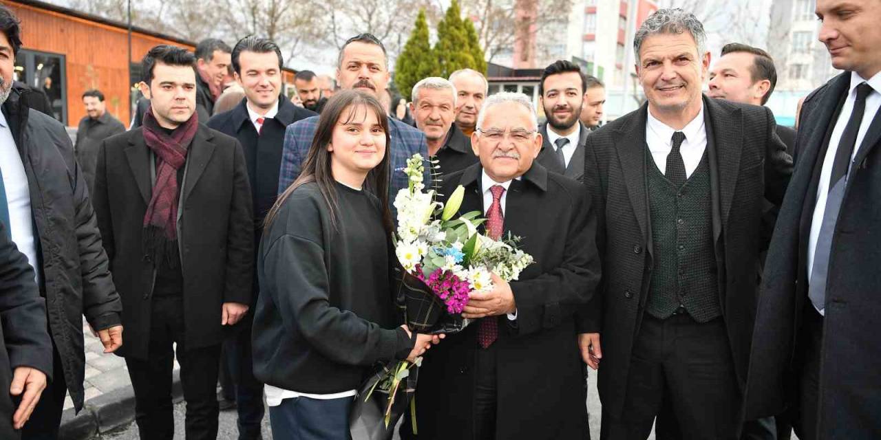
{"label": "pale shirt under black padded jacket of man at left edge", "polygon": [[31,191],[27,183],[25,165],[21,162],[19,148],[15,145],[9,122],[0,113],[0,170],[3,170],[3,184],[6,189],[6,202],[9,205],[9,223],[6,226],[11,232],[12,241],[19,251],[27,256],[35,273],[40,279],[40,268],[37,264],[37,246],[33,237],[33,219],[31,216]]}

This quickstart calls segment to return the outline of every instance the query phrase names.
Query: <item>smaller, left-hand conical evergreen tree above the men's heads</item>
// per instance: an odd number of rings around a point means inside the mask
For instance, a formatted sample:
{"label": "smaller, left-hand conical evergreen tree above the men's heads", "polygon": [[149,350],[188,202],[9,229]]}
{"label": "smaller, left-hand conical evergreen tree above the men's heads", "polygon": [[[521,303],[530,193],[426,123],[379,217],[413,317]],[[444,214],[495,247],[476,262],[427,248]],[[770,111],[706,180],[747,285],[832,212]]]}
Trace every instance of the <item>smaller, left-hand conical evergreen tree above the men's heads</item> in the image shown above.
{"label": "smaller, left-hand conical evergreen tree above the men's heads", "polygon": [[411,100],[413,85],[425,77],[436,77],[440,73],[437,58],[428,41],[428,23],[425,10],[420,10],[416,26],[410,33],[407,44],[395,64],[395,85],[403,99]]}

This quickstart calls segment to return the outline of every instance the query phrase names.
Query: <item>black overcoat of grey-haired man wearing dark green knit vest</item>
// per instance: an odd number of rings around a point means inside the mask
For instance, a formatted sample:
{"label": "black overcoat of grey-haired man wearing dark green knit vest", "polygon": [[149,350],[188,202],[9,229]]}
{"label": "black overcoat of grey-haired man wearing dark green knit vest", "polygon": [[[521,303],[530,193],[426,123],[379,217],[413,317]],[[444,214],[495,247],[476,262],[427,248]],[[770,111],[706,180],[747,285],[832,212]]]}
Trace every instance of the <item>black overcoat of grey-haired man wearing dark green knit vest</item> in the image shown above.
{"label": "black overcoat of grey-haired man wearing dark green knit vest", "polygon": [[[728,327],[738,383],[750,352],[763,245],[762,202],[779,204],[792,170],[765,107],[704,98],[707,157],[712,187],[713,233],[719,303]],[[581,319],[581,331],[599,332],[603,364],[598,388],[603,411],[621,414],[633,339],[639,331],[654,266],[648,210],[646,120],[648,104],[588,137],[584,180],[597,212],[596,242],[603,283]]]}

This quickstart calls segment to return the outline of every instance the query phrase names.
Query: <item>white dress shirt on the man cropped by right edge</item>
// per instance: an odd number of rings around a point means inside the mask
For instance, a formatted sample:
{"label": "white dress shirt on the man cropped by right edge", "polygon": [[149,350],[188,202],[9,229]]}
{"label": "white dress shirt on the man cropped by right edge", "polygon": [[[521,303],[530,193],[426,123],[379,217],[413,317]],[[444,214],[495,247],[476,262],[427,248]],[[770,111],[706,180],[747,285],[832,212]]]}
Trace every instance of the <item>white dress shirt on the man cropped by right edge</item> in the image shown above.
{"label": "white dress shirt on the man cropped by right edge", "polygon": [[[856,72],[851,72],[848,98],[845,99],[844,106],[841,107],[841,114],[838,116],[838,121],[835,121],[832,137],[829,138],[829,148],[826,150],[825,158],[823,159],[823,169],[820,171],[820,180],[817,186],[817,206],[814,208],[814,216],[811,220],[811,236],[808,242],[809,280],[811,279],[811,273],[814,268],[814,252],[816,251],[817,239],[820,235],[820,226],[823,225],[823,214],[825,212],[826,196],[829,194],[829,180],[832,179],[832,167],[835,163],[835,152],[838,151],[838,144],[841,143],[841,135],[844,134],[844,128],[848,125],[850,114],[854,112],[856,86],[862,83],[869,84],[874,90],[866,97],[866,110],[865,113],[862,114],[860,129],[856,132],[856,143],[854,146],[854,152],[850,157],[851,160],[854,160],[856,153],[859,152],[862,138],[865,137],[866,132],[869,131],[869,126],[872,123],[872,119],[875,118],[875,114],[878,112],[878,107],[881,107],[881,72],[876,73],[875,76],[871,77],[868,81],[863,77],[860,77]],[[822,311],[818,312],[822,314]]]}

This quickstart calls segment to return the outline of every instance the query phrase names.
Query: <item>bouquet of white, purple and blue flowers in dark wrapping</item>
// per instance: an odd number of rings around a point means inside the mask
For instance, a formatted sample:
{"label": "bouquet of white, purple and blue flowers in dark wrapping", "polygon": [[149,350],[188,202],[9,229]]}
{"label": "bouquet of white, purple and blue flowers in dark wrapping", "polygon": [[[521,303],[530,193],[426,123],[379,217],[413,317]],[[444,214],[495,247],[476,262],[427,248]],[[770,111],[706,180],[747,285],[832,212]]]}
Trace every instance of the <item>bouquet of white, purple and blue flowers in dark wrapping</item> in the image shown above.
{"label": "bouquet of white, purple and blue flowers in dark wrapping", "polygon": [[[533,260],[517,249],[520,238],[508,234],[495,240],[479,233],[478,226],[485,222],[480,211],[454,218],[465,188],[456,187],[446,205],[438,202],[438,194],[433,189],[426,191],[422,183],[425,162],[419,154],[407,160],[404,172],[410,178],[409,185],[396,194],[394,201],[395,252],[401,266],[397,303],[412,332],[454,334],[469,324],[462,312],[471,292],[492,290],[491,273],[506,282],[513,281]],[[421,358],[417,363],[400,361],[384,366],[362,390],[366,397],[359,395],[359,400],[366,401],[376,392],[381,393],[386,430],[393,413],[397,413],[395,420],[400,416],[393,408],[402,407],[402,400],[403,407],[411,401],[420,362]],[[398,392],[402,381],[407,385]],[[413,429],[415,432],[415,417]]]}

